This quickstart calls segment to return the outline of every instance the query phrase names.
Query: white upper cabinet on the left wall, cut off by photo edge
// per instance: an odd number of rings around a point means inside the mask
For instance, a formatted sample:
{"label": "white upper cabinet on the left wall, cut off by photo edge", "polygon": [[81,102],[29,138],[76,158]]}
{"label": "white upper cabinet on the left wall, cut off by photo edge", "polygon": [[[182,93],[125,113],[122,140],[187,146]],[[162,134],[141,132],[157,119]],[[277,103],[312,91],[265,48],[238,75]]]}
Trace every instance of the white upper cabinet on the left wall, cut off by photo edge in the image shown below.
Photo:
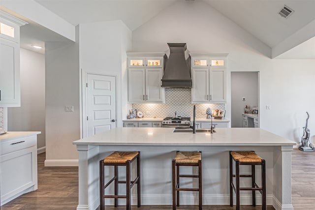
{"label": "white upper cabinet on the left wall, cut off by photo edge", "polygon": [[0,11],[0,107],[21,106],[20,26],[25,24]]}

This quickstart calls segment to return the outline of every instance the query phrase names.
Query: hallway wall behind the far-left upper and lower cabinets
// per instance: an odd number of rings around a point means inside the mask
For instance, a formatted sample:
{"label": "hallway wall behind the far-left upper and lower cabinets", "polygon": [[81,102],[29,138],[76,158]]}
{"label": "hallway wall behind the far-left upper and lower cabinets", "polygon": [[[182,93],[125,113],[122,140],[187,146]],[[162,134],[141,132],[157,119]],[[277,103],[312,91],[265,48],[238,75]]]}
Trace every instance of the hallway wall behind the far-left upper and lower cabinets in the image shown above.
{"label": "hallway wall behind the far-left upper and lower cabinets", "polygon": [[20,49],[21,107],[7,110],[9,131],[41,131],[37,148],[45,147],[45,56]]}

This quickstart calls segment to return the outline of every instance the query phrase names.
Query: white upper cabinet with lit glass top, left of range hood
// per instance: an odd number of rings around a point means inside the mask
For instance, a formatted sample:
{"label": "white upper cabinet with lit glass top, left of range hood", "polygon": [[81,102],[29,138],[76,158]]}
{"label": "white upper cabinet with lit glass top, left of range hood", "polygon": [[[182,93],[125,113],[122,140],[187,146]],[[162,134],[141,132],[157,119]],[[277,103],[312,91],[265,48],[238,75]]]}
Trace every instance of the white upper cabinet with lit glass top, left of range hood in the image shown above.
{"label": "white upper cabinet with lit glass top, left of range hood", "polygon": [[164,103],[161,87],[164,53],[127,53],[128,102]]}

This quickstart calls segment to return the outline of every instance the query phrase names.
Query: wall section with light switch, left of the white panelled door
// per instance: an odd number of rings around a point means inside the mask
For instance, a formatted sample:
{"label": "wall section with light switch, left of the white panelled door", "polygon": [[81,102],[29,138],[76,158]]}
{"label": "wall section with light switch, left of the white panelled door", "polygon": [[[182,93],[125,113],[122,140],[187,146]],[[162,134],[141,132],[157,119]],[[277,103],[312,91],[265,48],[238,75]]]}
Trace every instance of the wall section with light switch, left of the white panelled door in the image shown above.
{"label": "wall section with light switch, left of the white panelled door", "polygon": [[[72,142],[80,139],[79,44],[46,42],[46,160],[45,166],[77,165]],[[74,106],[74,112],[65,112]]]}

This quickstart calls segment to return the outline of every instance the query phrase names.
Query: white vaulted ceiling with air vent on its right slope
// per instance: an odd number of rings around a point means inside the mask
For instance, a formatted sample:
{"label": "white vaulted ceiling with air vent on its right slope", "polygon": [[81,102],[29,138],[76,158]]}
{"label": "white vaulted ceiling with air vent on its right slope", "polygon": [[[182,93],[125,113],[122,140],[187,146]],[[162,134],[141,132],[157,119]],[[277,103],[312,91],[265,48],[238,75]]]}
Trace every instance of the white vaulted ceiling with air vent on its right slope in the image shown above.
{"label": "white vaulted ceiling with air vent on its right slope", "polygon": [[[35,0],[73,26],[80,23],[122,20],[135,30],[175,1],[184,0]],[[271,49],[298,31],[315,24],[315,0],[189,0],[205,1],[221,14],[261,40]],[[287,19],[278,13],[284,4],[294,10]],[[34,27],[34,26],[28,26]],[[37,26],[38,27],[38,26]],[[34,30],[34,29],[33,29]],[[22,31],[27,41],[32,29]],[[279,58],[315,59],[315,29],[313,38],[299,40],[300,45],[288,50]],[[39,38],[38,38],[39,39]],[[45,40],[42,40],[45,41]]]}

